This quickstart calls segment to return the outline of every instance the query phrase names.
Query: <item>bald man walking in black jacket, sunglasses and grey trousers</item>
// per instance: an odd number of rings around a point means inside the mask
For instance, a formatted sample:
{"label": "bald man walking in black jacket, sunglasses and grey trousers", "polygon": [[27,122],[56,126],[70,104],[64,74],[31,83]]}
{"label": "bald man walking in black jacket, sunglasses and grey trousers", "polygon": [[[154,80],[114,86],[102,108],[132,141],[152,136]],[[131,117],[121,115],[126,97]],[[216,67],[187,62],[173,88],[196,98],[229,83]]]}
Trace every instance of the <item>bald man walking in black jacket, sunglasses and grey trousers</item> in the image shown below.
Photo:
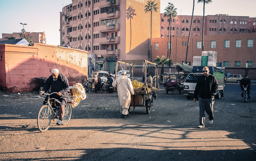
{"label": "bald man walking in black jacket, sunglasses and grey trousers", "polygon": [[198,128],[205,127],[205,111],[209,115],[209,123],[213,123],[213,104],[214,94],[218,90],[218,82],[215,76],[209,74],[209,68],[203,68],[203,75],[197,80],[195,87],[194,102],[197,100],[199,94],[199,126]]}

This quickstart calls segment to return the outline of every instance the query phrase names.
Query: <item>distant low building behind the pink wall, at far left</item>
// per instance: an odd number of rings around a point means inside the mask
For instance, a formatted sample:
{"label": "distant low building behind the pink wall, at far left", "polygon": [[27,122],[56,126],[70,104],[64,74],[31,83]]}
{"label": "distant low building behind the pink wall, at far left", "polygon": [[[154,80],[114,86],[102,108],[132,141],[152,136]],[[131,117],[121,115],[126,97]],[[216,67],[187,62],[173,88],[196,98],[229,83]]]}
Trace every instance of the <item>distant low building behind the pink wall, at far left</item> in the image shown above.
{"label": "distant low building behind the pink wall, at far left", "polygon": [[[2,34],[1,40],[8,40],[10,37],[15,37],[16,39],[20,38],[19,32],[13,32],[13,34]],[[42,43],[46,44],[46,37],[44,32],[25,32],[27,37],[32,37],[33,43]]]}

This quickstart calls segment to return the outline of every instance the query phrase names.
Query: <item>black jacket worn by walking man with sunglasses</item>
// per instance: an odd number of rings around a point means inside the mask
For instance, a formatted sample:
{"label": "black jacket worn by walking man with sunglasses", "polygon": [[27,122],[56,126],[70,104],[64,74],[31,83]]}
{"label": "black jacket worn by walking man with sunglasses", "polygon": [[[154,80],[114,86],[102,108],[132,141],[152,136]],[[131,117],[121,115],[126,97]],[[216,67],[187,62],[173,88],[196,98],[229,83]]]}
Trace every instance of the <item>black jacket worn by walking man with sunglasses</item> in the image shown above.
{"label": "black jacket worn by walking man with sunglasses", "polygon": [[214,98],[214,93],[218,90],[218,82],[215,76],[208,74],[206,77],[202,75],[197,80],[197,85],[195,87],[195,93],[193,98],[197,99],[197,95],[203,99]]}

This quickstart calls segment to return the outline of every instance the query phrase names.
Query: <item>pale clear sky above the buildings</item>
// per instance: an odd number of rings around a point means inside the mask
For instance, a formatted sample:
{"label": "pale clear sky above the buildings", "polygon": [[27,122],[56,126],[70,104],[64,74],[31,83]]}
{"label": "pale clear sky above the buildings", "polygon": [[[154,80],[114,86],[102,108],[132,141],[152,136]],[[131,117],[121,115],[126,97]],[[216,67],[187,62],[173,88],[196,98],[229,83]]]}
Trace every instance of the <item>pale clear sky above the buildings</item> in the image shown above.
{"label": "pale clear sky above the buildings", "polygon": [[[193,0],[161,0],[160,13],[164,13],[168,2],[174,4],[178,15],[192,15]],[[27,24],[24,25],[26,32],[44,32],[46,43],[57,46],[60,44],[60,12],[71,3],[71,0],[0,0],[0,38],[2,33],[21,32],[23,25],[20,23],[23,23]],[[255,5],[256,0],[212,0],[205,5],[205,15],[255,17]],[[194,15],[203,16],[203,3],[198,4],[197,0]]]}

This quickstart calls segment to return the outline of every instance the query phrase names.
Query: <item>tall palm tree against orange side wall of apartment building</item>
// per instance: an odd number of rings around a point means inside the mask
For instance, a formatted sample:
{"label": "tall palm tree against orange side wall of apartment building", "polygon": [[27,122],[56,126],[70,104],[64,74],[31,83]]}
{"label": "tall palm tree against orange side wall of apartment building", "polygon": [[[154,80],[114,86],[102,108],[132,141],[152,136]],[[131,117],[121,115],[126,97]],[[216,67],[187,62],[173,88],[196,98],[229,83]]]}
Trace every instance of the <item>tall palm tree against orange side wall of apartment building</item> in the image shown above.
{"label": "tall palm tree against orange side wall of apartment building", "polygon": [[[157,12],[158,11],[158,7],[157,7],[157,3],[155,3],[155,1],[148,1],[148,4],[145,6],[146,9],[144,9],[145,13],[150,12],[150,62],[152,62],[152,12]],[[158,12],[157,12],[158,13]]]}

